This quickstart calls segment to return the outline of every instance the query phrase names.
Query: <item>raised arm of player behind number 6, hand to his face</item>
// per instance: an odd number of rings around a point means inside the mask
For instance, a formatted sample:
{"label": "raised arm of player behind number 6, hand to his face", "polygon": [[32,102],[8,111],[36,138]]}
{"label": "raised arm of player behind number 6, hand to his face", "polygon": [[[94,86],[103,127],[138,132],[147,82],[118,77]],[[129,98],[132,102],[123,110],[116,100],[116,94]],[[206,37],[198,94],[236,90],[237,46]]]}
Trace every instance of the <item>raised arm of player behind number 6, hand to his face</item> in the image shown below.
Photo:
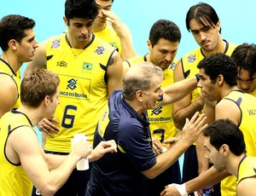
{"label": "raised arm of player behind number 6, hand to his face", "polygon": [[137,53],[132,44],[131,32],[124,23],[119,19],[116,14],[112,11],[102,9],[103,14],[108,16],[107,20],[112,23],[113,30],[117,33],[120,38],[122,54],[121,57],[123,61],[130,59],[133,56],[137,56]]}

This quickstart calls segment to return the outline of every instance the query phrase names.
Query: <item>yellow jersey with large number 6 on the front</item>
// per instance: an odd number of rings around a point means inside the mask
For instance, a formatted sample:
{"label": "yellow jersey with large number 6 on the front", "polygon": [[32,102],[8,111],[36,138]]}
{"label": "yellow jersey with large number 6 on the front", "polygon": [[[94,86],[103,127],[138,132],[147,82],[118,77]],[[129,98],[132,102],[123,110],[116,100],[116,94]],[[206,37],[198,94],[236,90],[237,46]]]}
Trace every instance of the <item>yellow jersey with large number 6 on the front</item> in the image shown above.
{"label": "yellow jersey with large number 6 on the front", "polygon": [[75,134],[84,133],[93,141],[99,114],[108,101],[108,61],[116,50],[94,35],[85,49],[73,49],[66,36],[50,37],[46,46],[46,67],[61,80],[61,103],[55,111],[60,131],[54,138],[46,137],[45,149],[61,153],[70,153]]}

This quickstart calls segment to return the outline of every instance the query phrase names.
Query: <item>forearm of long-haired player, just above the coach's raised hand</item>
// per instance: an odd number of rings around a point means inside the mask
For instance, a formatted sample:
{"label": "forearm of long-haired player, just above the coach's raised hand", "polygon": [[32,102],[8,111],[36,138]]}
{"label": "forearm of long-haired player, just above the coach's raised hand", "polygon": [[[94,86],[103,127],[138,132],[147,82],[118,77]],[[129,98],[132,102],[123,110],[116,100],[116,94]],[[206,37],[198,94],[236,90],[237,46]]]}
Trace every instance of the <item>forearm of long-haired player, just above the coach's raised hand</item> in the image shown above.
{"label": "forearm of long-haired player, just above the coach's raised hand", "polygon": [[[195,112],[201,112],[204,107],[204,101],[201,97],[197,97],[195,101],[191,102],[188,107],[184,107],[182,109],[173,110],[172,118],[175,126],[178,130],[183,130],[183,126],[185,124],[186,118],[191,118]],[[175,108],[175,104],[174,104]]]}

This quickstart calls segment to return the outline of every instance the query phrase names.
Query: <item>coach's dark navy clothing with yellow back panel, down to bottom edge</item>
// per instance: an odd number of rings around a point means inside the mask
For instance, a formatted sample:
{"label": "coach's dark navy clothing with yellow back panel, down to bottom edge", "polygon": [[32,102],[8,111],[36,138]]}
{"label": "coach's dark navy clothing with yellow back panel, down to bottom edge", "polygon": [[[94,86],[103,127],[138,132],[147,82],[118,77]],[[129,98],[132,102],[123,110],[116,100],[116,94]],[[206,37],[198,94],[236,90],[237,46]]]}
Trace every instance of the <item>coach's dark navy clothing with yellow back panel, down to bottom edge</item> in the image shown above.
{"label": "coach's dark navy clothing with yellow back panel, down to bottom edge", "polygon": [[156,164],[147,120],[116,89],[96,128],[94,146],[114,140],[118,153],[107,153],[93,163],[86,195],[147,195],[147,177],[141,171]]}

